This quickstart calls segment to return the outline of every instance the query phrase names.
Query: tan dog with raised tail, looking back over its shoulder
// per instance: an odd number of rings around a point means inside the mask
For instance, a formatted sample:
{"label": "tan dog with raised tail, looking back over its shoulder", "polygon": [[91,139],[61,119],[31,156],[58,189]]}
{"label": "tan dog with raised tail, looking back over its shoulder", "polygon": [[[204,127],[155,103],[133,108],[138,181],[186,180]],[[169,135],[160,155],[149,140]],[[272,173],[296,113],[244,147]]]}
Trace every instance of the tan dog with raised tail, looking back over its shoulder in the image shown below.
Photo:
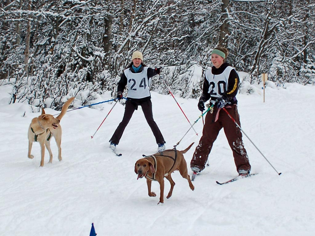
{"label": "tan dog with raised tail, looking back over its shoulder", "polygon": [[53,161],[53,154],[50,150],[50,138],[53,136],[56,140],[58,147],[58,160],[61,158],[61,126],[59,124],[61,118],[66,114],[66,111],[73,101],[73,97],[69,98],[61,109],[60,115],[56,118],[52,115],[45,114],[42,108],[42,115],[32,119],[31,124],[28,128],[28,158],[33,159],[34,156],[31,155],[31,149],[33,142],[38,142],[41,148],[41,161],[40,166],[44,166],[44,156],[45,156],[45,146],[49,152],[49,162]]}

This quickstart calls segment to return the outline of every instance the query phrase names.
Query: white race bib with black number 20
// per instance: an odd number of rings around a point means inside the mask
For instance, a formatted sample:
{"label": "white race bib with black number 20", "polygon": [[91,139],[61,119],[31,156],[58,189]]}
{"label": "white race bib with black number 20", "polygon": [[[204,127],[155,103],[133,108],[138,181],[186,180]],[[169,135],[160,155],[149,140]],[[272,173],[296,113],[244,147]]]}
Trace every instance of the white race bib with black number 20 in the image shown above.
{"label": "white race bib with black number 20", "polygon": [[206,79],[209,82],[208,93],[211,97],[221,98],[222,94],[226,93],[230,72],[233,69],[234,68],[232,66],[227,66],[219,75],[212,74],[211,68],[206,70]]}

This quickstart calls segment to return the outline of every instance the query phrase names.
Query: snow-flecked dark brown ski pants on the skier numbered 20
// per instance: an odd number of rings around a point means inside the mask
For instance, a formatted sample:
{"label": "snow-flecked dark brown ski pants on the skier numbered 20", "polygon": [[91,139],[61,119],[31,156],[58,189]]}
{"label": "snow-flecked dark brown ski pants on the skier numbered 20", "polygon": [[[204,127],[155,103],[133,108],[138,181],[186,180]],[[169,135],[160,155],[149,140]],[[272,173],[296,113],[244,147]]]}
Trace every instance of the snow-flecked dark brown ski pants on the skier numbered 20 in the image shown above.
{"label": "snow-flecked dark brown ski pants on the skier numbered 20", "polygon": [[[231,105],[231,107],[227,107],[225,109],[238,123],[238,125],[241,126],[237,105]],[[217,115],[218,111],[219,114]],[[217,121],[215,121],[216,116],[218,118]],[[223,109],[219,110],[217,107],[214,107],[213,113],[210,113],[210,111],[208,111],[206,115],[202,137],[200,138],[199,144],[196,147],[196,150],[190,162],[190,167],[196,166],[200,169],[200,171],[204,169],[213,143],[218,137],[218,134],[222,127],[224,129],[227,141],[232,149],[237,171],[240,169],[250,171],[251,166],[249,164],[249,159],[244,148],[241,130]]]}

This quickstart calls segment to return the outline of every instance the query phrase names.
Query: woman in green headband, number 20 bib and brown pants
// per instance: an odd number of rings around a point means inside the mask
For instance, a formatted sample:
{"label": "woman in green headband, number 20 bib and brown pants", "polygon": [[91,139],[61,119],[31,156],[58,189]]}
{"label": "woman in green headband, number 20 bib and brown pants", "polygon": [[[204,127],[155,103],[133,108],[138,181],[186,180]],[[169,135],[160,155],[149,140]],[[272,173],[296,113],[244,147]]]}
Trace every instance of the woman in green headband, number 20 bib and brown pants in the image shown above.
{"label": "woman in green headband, number 20 bib and brown pants", "polygon": [[204,169],[213,143],[222,128],[232,149],[238,174],[249,174],[251,169],[241,130],[226,112],[221,111],[224,108],[240,126],[235,97],[238,92],[239,76],[236,70],[225,62],[227,55],[228,50],[226,48],[213,49],[211,52],[213,66],[205,73],[203,93],[199,99],[198,109],[203,112],[204,103],[210,99],[209,105],[213,104],[213,110],[206,115],[203,135],[190,162],[190,167],[194,173]]}

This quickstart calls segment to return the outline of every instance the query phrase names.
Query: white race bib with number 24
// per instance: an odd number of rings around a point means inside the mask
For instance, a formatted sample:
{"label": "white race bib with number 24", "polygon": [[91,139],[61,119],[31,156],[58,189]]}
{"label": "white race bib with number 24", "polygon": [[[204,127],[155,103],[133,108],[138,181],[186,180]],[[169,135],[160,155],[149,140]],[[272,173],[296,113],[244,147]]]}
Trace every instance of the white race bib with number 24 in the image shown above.
{"label": "white race bib with number 24", "polygon": [[148,79],[147,70],[148,67],[145,66],[140,73],[133,73],[129,68],[123,71],[127,77],[128,98],[146,98],[151,96],[149,90],[151,78]]}

